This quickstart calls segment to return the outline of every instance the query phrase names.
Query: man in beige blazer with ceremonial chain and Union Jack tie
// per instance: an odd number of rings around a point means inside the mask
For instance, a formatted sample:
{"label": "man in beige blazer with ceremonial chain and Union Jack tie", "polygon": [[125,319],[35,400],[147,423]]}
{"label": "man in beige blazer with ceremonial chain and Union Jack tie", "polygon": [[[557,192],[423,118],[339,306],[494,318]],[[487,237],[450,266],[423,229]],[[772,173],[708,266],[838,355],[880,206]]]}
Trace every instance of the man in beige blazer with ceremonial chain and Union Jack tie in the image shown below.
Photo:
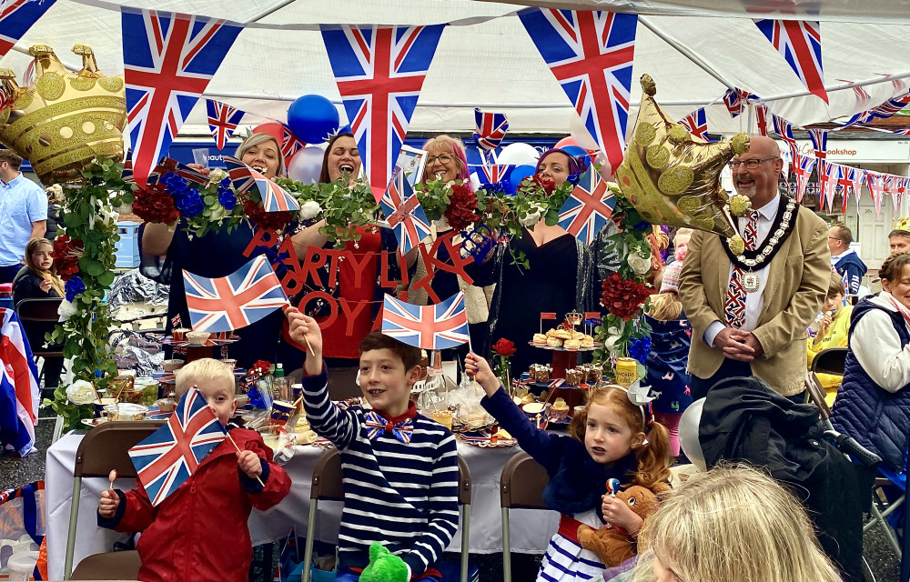
{"label": "man in beige blazer with ceremonial chain and Union Jack tie", "polygon": [[689,242],[679,294],[693,327],[693,398],[723,378],[757,376],[803,401],[806,329],[824,302],[831,254],[824,220],[778,192],[783,165],[777,144],[761,135],[730,162],[736,192],[752,202],[734,218],[742,254],[700,230]]}

